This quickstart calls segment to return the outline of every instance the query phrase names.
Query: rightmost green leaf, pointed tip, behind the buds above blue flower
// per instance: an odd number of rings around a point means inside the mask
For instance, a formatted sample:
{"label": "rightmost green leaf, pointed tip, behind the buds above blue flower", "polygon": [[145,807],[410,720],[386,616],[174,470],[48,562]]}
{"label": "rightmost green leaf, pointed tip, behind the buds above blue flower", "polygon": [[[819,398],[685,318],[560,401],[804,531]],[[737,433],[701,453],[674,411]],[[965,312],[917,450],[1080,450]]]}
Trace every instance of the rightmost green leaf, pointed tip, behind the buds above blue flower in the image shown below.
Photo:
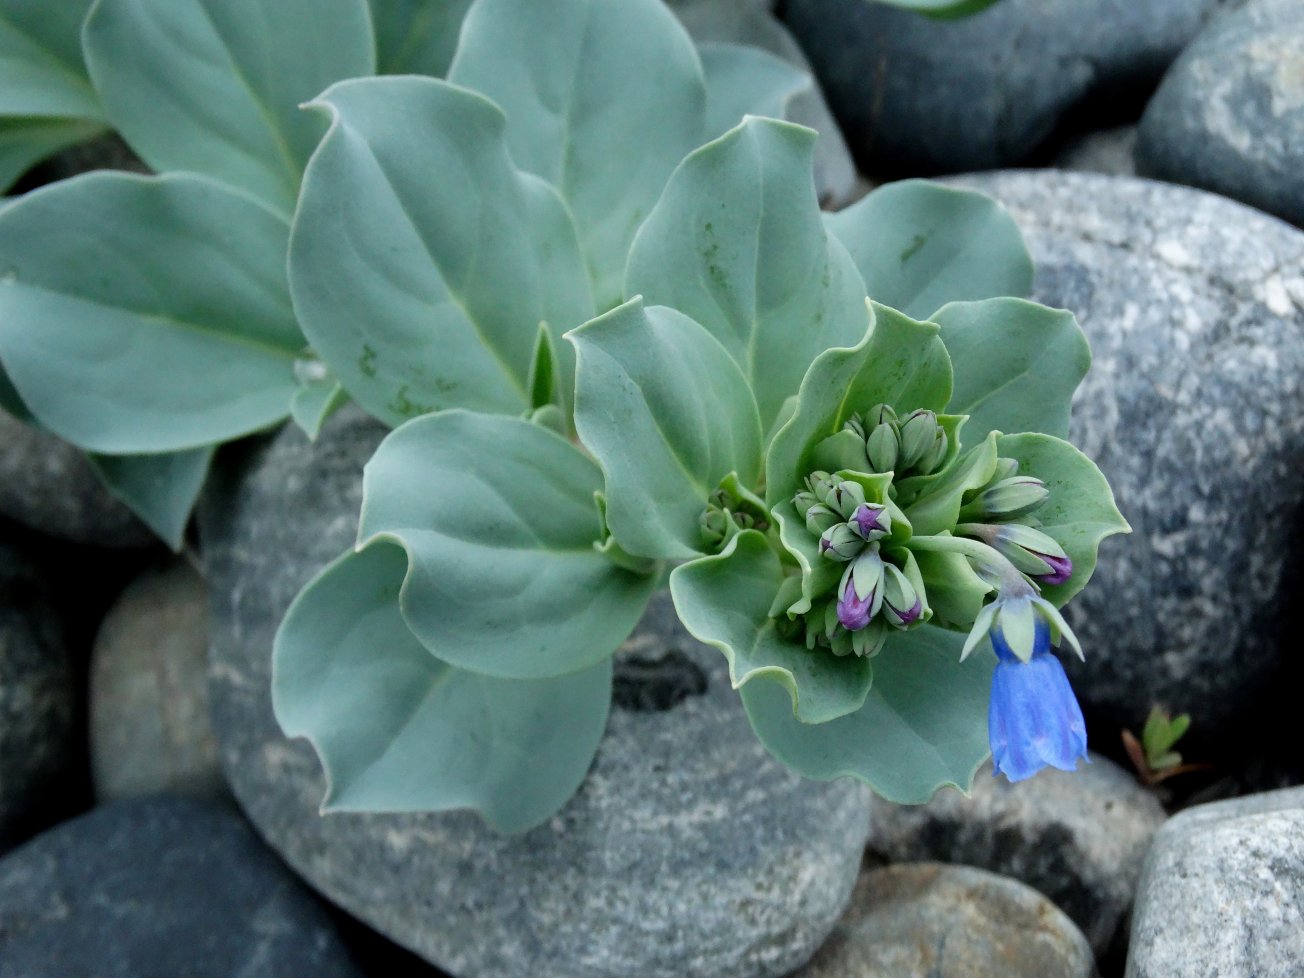
{"label": "rightmost green leaf, pointed tip, behind the buds above blue flower", "polygon": [[1007,434],[996,439],[996,451],[1018,462],[1020,475],[1035,476],[1050,489],[1037,510],[1037,528],[1064,548],[1073,575],[1063,584],[1043,584],[1042,597],[1060,608],[1091,579],[1101,541],[1132,528],[1101,469],[1068,442],[1048,434]]}

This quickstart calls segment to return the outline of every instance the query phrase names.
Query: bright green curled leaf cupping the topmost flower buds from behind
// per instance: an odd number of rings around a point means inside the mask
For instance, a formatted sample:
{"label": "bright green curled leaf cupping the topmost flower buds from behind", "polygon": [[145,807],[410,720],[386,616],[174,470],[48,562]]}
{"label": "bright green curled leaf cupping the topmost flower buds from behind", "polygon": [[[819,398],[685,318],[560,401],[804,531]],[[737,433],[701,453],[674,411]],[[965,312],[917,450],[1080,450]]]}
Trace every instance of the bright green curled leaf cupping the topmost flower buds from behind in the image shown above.
{"label": "bright green curled leaf cupping the topmost flower buds from behind", "polygon": [[[765,458],[765,502],[789,498],[814,469],[820,442],[858,411],[940,412],[951,400],[951,361],[931,322],[870,305],[870,329],[854,347],[827,349],[810,365],[792,420]],[[863,322],[863,319],[862,319]]]}

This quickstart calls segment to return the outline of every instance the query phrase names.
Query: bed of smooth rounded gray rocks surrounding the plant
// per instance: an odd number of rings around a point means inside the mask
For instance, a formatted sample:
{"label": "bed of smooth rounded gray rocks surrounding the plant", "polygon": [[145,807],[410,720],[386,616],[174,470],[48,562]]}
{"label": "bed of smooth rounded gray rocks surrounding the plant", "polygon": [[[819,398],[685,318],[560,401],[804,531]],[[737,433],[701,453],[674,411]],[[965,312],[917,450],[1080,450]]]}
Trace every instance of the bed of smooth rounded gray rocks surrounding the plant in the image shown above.
{"label": "bed of smooth rounded gray rocks surrounding the plant", "polygon": [[[853,193],[848,149],[862,188],[982,189],[1033,297],[1078,317],[1073,441],[1134,529],[1068,609],[1091,763],[921,807],[803,782],[653,605],[549,824],[323,818],[271,716],[271,636],[352,537],[382,430],[346,411],[317,443],[227,450],[173,557],[0,415],[0,978],[1300,974],[1304,5],[771,4],[799,48],[763,0],[683,7],[805,51],[807,119],[842,128],[827,198]],[[1121,739],[1154,705],[1192,716],[1194,769],[1162,784]]]}

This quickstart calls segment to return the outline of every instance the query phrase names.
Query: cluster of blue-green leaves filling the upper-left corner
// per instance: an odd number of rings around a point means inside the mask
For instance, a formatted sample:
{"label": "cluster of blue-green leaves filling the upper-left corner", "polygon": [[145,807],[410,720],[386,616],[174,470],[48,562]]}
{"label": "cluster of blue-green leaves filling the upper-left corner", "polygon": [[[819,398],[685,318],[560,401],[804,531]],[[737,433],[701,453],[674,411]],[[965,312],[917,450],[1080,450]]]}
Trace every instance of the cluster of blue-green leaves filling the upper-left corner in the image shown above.
{"label": "cluster of blue-green leaves filling the upper-left corner", "polygon": [[[469,0],[0,5],[0,177],[116,129],[156,176],[94,172],[0,215],[0,406],[90,452],[179,546],[216,445],[340,402],[286,279],[342,78],[442,73]],[[9,166],[12,163],[12,166]]]}

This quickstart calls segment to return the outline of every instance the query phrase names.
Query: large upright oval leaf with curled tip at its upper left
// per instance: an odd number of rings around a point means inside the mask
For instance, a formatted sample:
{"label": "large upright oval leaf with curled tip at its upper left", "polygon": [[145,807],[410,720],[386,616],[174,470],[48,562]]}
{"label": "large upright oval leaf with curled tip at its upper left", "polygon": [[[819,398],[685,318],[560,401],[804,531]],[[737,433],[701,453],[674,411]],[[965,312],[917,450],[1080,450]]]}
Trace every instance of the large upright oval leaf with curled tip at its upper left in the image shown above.
{"label": "large upright oval leaf with curled tip at its upper left", "polygon": [[559,335],[593,309],[566,209],[512,166],[502,112],[413,77],[342,82],[313,104],[333,123],[304,177],[289,280],[317,353],[391,425],[526,411],[539,325]]}

